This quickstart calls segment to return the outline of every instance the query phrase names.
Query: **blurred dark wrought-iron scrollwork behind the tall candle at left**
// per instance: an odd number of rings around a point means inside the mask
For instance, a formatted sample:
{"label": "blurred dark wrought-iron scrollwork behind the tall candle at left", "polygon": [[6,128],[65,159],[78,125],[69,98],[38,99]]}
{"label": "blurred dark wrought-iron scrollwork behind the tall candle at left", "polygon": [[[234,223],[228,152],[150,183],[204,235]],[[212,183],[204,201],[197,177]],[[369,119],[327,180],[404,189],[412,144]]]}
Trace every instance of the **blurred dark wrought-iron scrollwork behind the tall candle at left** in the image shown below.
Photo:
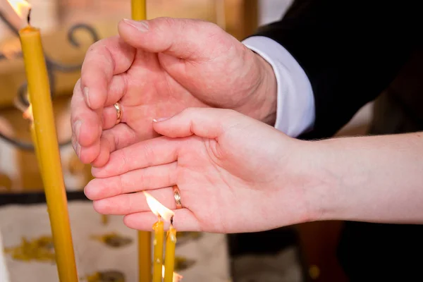
{"label": "blurred dark wrought-iron scrollwork behind the tall candle at left", "polygon": [[[0,11],[0,20],[6,23],[8,28],[16,35],[19,36],[19,30],[16,29],[7,19],[6,16],[4,16],[3,13]],[[92,42],[97,42],[99,40],[99,36],[97,35],[97,32],[94,30],[93,27],[90,25],[87,25],[85,23],[78,23],[75,25],[72,25],[68,30],[68,42],[70,42],[74,47],[80,47],[80,44],[78,43],[78,40],[75,38],[75,32],[78,30],[85,30],[85,32],[88,32],[90,37],[92,38]],[[17,57],[22,56],[22,54],[18,54]],[[51,59],[47,54],[44,54],[44,57],[46,59],[46,65],[47,65],[47,72],[49,75],[50,80],[50,90],[51,90],[51,99],[54,99],[54,89],[56,80],[54,77],[54,73],[61,72],[61,73],[72,73],[74,71],[80,71],[80,68],[82,64],[71,64],[66,65],[63,63],[59,63]],[[8,59],[7,56],[2,54],[0,52],[0,60]],[[1,94],[1,93],[0,93]],[[20,85],[18,89],[18,93],[16,94],[16,99],[19,104],[27,107],[30,106],[28,100],[27,100],[27,82],[23,82],[22,85]],[[0,138],[8,142],[9,144],[13,145],[14,147],[17,147],[19,149],[27,150],[27,151],[34,151],[34,146],[30,142],[24,142],[22,140],[17,140],[13,137],[9,137],[5,135],[4,133],[0,132]],[[71,140],[67,140],[66,142],[62,142],[59,144],[60,147],[71,145]]]}

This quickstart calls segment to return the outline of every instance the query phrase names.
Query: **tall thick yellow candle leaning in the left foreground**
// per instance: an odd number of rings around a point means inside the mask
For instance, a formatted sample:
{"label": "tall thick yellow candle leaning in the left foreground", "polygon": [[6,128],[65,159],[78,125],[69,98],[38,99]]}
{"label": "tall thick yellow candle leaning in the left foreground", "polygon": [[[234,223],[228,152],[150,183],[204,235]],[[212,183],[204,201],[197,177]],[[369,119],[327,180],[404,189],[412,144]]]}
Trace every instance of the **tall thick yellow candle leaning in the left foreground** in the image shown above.
{"label": "tall thick yellow candle leaning in the left foreground", "polygon": [[75,254],[63,181],[59,142],[54,123],[47,66],[39,29],[28,25],[19,31],[28,91],[34,116],[37,149],[54,241],[59,281],[77,282]]}

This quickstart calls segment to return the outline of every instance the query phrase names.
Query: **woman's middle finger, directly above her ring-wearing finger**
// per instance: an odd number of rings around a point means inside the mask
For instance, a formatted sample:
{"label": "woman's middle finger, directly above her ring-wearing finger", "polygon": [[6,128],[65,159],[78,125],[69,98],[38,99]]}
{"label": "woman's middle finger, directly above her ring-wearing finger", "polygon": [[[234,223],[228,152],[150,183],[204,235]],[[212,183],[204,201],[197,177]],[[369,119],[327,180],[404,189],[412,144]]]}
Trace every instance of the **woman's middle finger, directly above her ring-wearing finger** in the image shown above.
{"label": "woman's middle finger, directly above her ring-wearing finger", "polygon": [[102,200],[121,194],[169,187],[176,184],[178,164],[149,166],[123,173],[111,178],[94,178],[85,186],[85,195],[90,200]]}

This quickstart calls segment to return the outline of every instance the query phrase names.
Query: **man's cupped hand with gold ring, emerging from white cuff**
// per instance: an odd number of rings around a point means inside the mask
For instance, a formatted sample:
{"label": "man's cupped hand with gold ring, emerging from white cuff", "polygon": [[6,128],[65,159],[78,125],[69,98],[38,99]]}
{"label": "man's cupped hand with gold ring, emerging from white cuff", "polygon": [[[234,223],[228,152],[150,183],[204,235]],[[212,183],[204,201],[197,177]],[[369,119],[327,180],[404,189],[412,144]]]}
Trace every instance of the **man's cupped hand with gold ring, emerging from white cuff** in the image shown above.
{"label": "man's cupped hand with gold ring, emerging from white cuff", "polygon": [[[122,20],[118,33],[90,47],[73,92],[73,147],[84,163],[104,166],[110,152],[156,136],[153,118],[192,106],[274,123],[271,66],[217,25]],[[116,102],[123,108],[117,125]]]}

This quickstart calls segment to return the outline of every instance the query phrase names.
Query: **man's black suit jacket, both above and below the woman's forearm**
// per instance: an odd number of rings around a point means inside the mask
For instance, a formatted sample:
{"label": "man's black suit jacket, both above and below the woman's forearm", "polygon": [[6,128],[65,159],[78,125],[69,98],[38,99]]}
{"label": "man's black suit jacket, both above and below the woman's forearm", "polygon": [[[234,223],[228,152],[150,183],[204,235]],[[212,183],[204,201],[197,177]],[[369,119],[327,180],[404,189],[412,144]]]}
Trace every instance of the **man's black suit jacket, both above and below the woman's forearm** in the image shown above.
{"label": "man's black suit jacket, both above and below the woman's forearm", "polygon": [[[259,28],[255,35],[288,49],[311,82],[316,120],[314,129],[300,138],[333,136],[382,93],[373,133],[423,130],[423,87],[405,87],[410,81],[422,86],[423,66],[420,80],[410,68],[403,69],[422,50],[423,13],[417,4],[298,0],[281,20]],[[391,85],[401,70],[409,80]],[[419,281],[422,255],[423,226],[418,225],[347,222],[339,249],[351,281]]]}

